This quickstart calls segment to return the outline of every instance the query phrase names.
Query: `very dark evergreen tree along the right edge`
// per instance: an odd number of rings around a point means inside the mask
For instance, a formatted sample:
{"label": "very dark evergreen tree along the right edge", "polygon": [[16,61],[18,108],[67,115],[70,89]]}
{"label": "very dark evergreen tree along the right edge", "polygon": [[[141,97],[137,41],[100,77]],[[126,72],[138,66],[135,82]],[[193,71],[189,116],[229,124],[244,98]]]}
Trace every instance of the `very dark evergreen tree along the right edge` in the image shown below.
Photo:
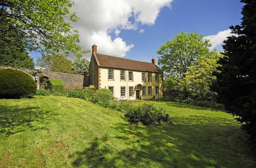
{"label": "very dark evergreen tree along the right edge", "polygon": [[224,57],[217,73],[215,91],[228,113],[237,116],[256,149],[256,1],[242,0],[241,25],[230,26],[238,36],[224,41]]}

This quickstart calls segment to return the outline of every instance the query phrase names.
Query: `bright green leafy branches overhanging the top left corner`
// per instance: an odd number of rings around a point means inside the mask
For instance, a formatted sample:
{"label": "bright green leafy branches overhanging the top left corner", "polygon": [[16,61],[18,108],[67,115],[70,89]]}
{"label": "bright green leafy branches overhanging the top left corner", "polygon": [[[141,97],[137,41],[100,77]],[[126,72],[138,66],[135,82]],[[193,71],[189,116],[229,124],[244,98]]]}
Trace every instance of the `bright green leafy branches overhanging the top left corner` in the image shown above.
{"label": "bright green leafy branches overhanging the top left corner", "polygon": [[[73,30],[69,23],[78,19],[75,13],[69,12],[72,5],[69,0],[0,1],[0,25],[7,25],[0,30],[0,39],[9,38],[8,32],[16,29],[18,34],[22,34],[22,41],[29,51],[40,52],[42,55],[73,53],[81,57],[86,51],[78,46],[78,31]],[[16,36],[13,38],[20,40]]]}

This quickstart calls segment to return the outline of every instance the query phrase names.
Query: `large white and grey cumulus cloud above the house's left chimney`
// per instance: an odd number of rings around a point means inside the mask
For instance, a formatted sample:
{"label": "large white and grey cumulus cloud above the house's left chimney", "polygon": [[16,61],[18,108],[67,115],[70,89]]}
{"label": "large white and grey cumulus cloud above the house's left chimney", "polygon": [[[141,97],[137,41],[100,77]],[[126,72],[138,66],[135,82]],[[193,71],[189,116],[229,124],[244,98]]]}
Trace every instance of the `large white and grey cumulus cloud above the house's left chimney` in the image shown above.
{"label": "large white and grey cumulus cloud above the house's left chimney", "polygon": [[[119,36],[121,30],[137,30],[138,25],[152,25],[163,7],[170,7],[173,0],[72,0],[75,12],[80,18],[72,23],[79,31],[80,45],[91,49],[98,46],[97,52],[124,57],[133,44],[127,44]],[[142,32],[140,32],[142,31]],[[141,29],[143,33],[145,30]],[[115,37],[111,37],[114,33]],[[90,53],[86,54],[89,59]]]}

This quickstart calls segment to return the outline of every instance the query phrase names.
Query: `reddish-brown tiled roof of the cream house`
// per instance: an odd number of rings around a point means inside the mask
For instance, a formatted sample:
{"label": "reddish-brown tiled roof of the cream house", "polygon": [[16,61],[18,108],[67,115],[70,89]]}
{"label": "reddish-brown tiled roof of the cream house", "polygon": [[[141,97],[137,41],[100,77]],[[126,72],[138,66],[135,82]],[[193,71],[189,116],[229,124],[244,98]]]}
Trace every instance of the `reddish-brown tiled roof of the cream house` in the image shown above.
{"label": "reddish-brown tiled roof of the cream house", "polygon": [[152,63],[123,59],[100,53],[95,53],[95,55],[100,67],[159,72],[158,67]]}

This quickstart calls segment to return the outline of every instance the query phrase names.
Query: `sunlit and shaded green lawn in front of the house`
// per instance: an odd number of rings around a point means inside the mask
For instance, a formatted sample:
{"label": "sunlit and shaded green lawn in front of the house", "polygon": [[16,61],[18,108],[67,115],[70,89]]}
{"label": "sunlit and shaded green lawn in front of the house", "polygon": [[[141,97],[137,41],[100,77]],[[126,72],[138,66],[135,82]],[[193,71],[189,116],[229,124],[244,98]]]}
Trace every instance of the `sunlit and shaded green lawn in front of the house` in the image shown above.
{"label": "sunlit and shaded green lawn in front of the house", "polygon": [[0,167],[255,167],[232,116],[156,105],[174,124],[131,125],[117,111],[78,98],[0,99]]}

